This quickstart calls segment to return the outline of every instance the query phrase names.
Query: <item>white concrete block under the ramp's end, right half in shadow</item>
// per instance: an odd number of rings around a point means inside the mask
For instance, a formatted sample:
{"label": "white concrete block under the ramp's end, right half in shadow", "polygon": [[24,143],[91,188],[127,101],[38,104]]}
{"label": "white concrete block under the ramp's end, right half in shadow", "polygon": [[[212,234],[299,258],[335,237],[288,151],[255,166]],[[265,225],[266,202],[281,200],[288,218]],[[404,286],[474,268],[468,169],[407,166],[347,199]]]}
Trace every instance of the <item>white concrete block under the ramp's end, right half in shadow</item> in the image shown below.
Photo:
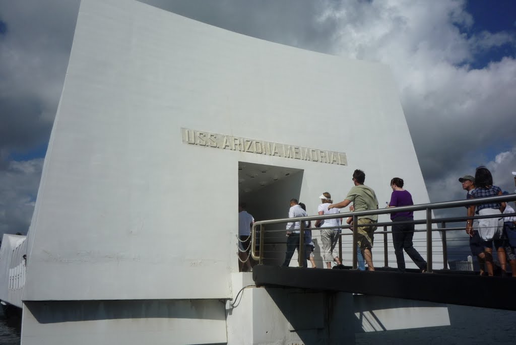
{"label": "white concrete block under the ramp's end, right half in shadow", "polygon": [[231,279],[228,345],[354,344],[351,293],[249,287],[251,273],[234,273]]}

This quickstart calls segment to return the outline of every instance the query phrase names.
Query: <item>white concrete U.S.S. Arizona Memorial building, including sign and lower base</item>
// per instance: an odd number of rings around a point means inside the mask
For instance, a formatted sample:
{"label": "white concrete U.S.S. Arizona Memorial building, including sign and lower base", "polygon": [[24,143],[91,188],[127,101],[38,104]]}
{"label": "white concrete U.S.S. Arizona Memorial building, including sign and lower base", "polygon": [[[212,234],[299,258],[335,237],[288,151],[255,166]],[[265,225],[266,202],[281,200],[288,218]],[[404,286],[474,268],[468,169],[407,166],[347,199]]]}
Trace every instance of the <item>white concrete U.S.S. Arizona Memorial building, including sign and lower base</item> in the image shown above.
{"label": "white concrete U.S.S. Arizona Memorial building, including sign and lower base", "polygon": [[253,284],[237,205],[286,218],[296,198],[316,215],[355,169],[380,207],[395,176],[429,202],[385,65],[83,0],[27,236],[22,344],[298,341],[265,289],[229,302]]}

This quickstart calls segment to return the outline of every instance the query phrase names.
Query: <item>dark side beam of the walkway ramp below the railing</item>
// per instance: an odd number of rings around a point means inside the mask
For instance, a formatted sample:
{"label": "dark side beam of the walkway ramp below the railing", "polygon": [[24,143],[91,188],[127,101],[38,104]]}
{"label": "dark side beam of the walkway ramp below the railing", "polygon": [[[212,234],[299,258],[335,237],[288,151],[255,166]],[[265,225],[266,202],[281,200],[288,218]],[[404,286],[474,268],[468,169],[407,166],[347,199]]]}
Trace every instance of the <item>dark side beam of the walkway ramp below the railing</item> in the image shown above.
{"label": "dark side beam of the walkway ramp below the railing", "polygon": [[516,278],[473,274],[399,273],[257,265],[256,286],[342,291],[418,301],[516,310]]}

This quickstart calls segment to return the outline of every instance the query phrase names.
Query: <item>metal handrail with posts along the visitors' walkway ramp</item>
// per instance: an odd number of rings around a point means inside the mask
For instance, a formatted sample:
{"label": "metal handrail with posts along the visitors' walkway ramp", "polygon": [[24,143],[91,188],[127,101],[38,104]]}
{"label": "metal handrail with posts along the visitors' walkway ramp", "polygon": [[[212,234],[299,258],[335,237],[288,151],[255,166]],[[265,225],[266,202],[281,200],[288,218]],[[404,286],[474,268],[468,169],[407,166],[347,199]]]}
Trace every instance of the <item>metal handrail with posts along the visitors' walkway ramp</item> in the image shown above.
{"label": "metal handrail with posts along the visitors' walkway ramp", "polygon": [[[326,220],[326,219],[335,219],[335,218],[347,218],[347,217],[353,217],[353,225],[341,225],[335,228],[353,228],[353,269],[357,269],[357,228],[358,228],[358,217],[361,216],[373,216],[373,215],[384,215],[384,214],[390,214],[395,212],[402,212],[402,211],[426,211],[426,220],[417,220],[412,221],[409,223],[414,224],[426,224],[426,233],[427,233],[427,272],[431,273],[433,271],[432,269],[432,232],[434,231],[441,231],[442,232],[442,241],[443,241],[443,261],[445,269],[447,267],[447,255],[446,255],[446,229],[445,224],[446,222],[460,222],[464,220],[469,219],[485,219],[485,218],[496,218],[497,215],[494,216],[474,216],[474,217],[455,217],[455,218],[444,218],[444,219],[432,219],[432,210],[434,209],[443,209],[443,208],[455,208],[455,207],[464,207],[464,206],[472,206],[472,205],[479,205],[479,204],[486,204],[486,203],[502,203],[502,202],[511,202],[516,201],[516,194],[508,194],[508,195],[499,195],[499,196],[490,196],[488,198],[477,198],[477,199],[467,199],[467,200],[457,200],[457,201],[447,201],[447,202],[439,202],[439,203],[427,203],[427,204],[419,204],[419,205],[411,205],[411,206],[401,206],[401,207],[390,207],[390,208],[382,208],[382,209],[376,209],[376,210],[367,210],[367,211],[350,211],[350,212],[343,212],[343,213],[334,213],[333,215],[322,215],[322,216],[305,216],[305,217],[296,217],[296,218],[281,218],[281,219],[271,219],[271,220],[263,220],[263,221],[257,221],[253,224],[252,227],[252,237],[251,237],[251,257],[255,260],[259,261],[259,264],[263,264],[263,242],[264,242],[264,236],[263,232],[261,232],[260,236],[260,254],[256,255],[256,228],[260,226],[261,231],[264,230],[264,225],[269,224],[280,224],[280,223],[288,223],[288,222],[300,222],[301,228],[300,228],[300,239],[304,238],[304,231],[305,230],[312,230],[312,229],[321,229],[320,227],[310,227],[310,228],[304,228],[304,221],[312,221],[312,220]],[[515,213],[506,214],[504,217],[510,217],[515,215]],[[441,223],[442,228],[441,229],[432,229],[432,224],[434,223]],[[372,224],[374,226],[383,226],[384,227],[384,242],[386,243],[386,227],[391,226],[391,222],[382,222],[382,223],[375,223]],[[284,230],[281,230],[284,231]],[[421,232],[421,231],[418,231]],[[341,234],[343,235],[343,234]],[[350,234],[351,235],[351,234]],[[339,237],[341,238],[341,237]],[[301,247],[303,247],[301,249]],[[386,247],[386,244],[384,244],[384,247]],[[304,257],[303,251],[304,246],[300,245],[301,253],[298,255],[299,265],[301,266],[301,259]],[[386,253],[386,248],[384,249]],[[339,251],[342,251],[342,244],[339,243]],[[339,257],[342,256],[342,253],[339,253]],[[385,257],[385,266],[388,265],[388,259]]]}

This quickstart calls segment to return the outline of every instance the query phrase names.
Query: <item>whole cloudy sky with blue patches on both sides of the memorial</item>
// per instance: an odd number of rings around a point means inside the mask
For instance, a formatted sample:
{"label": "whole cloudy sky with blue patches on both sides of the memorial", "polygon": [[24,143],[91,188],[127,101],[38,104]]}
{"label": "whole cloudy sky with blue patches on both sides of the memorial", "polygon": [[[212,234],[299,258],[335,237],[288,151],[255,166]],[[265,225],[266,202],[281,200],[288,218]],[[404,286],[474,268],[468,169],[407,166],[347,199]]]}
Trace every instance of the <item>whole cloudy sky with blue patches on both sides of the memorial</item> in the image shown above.
{"label": "whole cloudy sky with blue patches on both sides of the memorial", "polygon": [[[241,34],[388,64],[430,200],[488,166],[514,191],[516,2],[145,0]],[[0,0],[0,234],[26,233],[78,0]]]}

